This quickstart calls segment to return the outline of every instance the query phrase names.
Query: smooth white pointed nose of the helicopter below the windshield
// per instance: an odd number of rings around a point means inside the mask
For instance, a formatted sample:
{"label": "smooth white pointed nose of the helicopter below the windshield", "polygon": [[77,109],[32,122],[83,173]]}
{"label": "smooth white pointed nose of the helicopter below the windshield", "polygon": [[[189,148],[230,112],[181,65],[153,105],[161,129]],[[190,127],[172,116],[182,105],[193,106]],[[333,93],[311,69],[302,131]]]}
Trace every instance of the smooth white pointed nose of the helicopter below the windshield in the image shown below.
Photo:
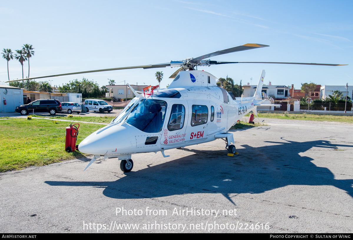
{"label": "smooth white pointed nose of the helicopter below the windshield", "polygon": [[131,148],[136,148],[132,129],[118,125],[108,125],[99,129],[78,145],[80,152],[94,155],[121,153],[121,150]]}

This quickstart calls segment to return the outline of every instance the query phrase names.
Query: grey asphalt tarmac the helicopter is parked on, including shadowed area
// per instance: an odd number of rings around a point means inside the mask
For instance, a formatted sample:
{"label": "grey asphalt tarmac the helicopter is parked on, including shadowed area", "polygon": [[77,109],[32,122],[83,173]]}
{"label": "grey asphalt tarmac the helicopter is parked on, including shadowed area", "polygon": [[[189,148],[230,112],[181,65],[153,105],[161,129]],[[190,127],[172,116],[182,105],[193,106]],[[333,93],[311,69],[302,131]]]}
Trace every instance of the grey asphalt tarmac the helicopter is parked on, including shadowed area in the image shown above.
{"label": "grey asphalt tarmac the helicopter is parked on, including shadowed area", "polygon": [[[352,233],[353,124],[265,119],[162,154],[0,174],[1,233]],[[123,141],[123,140],[121,140]]]}

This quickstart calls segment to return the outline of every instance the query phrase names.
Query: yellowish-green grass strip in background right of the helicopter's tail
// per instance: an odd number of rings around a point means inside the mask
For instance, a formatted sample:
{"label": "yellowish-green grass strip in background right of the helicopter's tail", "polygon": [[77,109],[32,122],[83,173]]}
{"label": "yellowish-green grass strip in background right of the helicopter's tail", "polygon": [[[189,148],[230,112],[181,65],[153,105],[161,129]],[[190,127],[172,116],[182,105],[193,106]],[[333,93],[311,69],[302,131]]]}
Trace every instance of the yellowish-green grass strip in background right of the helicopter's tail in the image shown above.
{"label": "yellowish-green grass strip in background right of the helicopter's tail", "polygon": [[[336,115],[318,115],[318,114],[295,114],[295,113],[257,113],[262,118],[279,118],[279,119],[296,119],[310,121],[328,121],[328,122],[346,122],[353,123],[353,116],[336,116]],[[245,115],[249,117],[249,114]]]}

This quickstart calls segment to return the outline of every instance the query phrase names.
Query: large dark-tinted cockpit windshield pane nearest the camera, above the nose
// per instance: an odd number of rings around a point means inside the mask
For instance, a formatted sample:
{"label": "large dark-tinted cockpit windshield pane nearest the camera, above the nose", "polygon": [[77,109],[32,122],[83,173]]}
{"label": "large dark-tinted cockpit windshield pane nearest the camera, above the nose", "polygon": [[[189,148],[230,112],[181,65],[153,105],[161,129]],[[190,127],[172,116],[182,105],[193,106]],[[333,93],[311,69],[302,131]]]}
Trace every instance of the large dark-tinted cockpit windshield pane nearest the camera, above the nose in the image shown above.
{"label": "large dark-tinted cockpit windshield pane nearest the camera, above the nose", "polygon": [[126,118],[126,123],[145,133],[162,131],[167,103],[157,99],[142,99]]}

